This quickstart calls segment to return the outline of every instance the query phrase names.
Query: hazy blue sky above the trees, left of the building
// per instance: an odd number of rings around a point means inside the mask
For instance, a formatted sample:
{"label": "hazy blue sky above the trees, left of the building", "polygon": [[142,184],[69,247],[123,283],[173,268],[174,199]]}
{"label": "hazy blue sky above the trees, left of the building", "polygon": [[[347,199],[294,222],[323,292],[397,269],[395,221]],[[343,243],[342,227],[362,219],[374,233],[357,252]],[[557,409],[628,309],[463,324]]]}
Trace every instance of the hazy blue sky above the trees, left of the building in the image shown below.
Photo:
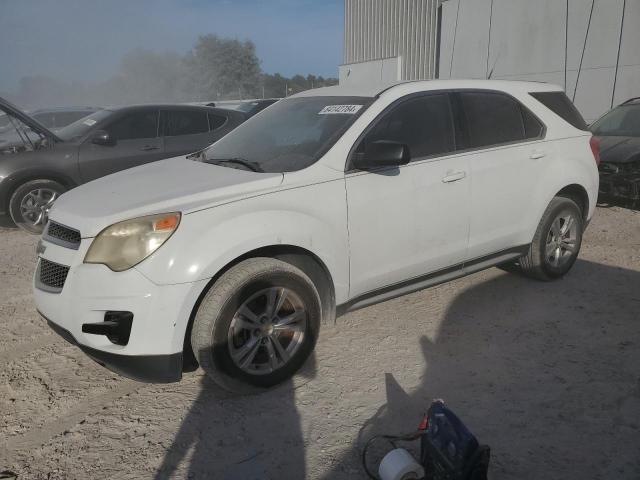
{"label": "hazy blue sky above the trees, left of the building", "polygon": [[337,77],[342,0],[0,0],[0,91],[21,77],[100,81],[136,48],[184,53],[214,33],[256,44],[262,69]]}

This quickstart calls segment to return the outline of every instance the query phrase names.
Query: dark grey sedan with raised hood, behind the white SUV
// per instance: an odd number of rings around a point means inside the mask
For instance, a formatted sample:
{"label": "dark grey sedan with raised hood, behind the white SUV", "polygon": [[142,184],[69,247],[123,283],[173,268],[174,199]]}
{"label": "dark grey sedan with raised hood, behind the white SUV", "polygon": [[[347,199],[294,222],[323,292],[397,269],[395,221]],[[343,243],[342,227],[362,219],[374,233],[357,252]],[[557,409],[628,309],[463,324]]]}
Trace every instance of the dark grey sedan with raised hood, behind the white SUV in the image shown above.
{"label": "dark grey sedan with raised hood, behind the white SUV", "polygon": [[0,110],[21,139],[0,144],[0,215],[31,233],[42,232],[49,208],[65,191],[201,150],[246,119],[221,108],[138,105],[101,109],[54,133],[3,99]]}

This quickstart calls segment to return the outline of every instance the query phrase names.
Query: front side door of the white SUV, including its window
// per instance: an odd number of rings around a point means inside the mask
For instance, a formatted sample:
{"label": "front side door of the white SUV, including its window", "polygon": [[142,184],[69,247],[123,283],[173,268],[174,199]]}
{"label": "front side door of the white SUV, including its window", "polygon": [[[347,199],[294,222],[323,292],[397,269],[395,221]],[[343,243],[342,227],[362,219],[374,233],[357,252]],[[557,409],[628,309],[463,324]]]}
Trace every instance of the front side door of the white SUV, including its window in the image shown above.
{"label": "front side door of the white SUV, including its window", "polygon": [[470,178],[455,154],[447,93],[401,100],[366,134],[366,142],[408,145],[411,162],[346,175],[350,297],[443,270],[460,268],[469,234]]}

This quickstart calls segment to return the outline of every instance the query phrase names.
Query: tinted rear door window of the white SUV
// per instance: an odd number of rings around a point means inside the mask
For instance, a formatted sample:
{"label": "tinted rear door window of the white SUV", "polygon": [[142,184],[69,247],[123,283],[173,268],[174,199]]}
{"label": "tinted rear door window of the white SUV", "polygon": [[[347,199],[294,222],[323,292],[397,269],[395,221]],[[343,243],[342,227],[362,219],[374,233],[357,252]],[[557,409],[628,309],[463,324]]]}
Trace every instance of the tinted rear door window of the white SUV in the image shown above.
{"label": "tinted rear door window of the white SUV", "polygon": [[[537,119],[529,112],[530,117],[525,119],[520,103],[507,95],[493,92],[460,93],[460,102],[467,124],[469,148],[517,142],[541,133],[542,126],[536,131],[533,125]],[[525,124],[528,124],[529,132]]]}

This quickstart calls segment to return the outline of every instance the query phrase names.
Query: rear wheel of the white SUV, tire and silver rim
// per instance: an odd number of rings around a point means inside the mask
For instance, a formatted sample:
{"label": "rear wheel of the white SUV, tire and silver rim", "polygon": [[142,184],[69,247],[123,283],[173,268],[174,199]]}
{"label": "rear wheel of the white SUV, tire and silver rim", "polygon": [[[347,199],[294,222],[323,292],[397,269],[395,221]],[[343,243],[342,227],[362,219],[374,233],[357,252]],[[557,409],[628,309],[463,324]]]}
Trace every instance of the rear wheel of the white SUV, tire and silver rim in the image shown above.
{"label": "rear wheel of the white SUV, tire and silver rim", "polygon": [[580,207],[570,198],[555,197],[542,215],[529,252],[519,260],[520,270],[543,281],[562,277],[578,258],[583,232]]}

